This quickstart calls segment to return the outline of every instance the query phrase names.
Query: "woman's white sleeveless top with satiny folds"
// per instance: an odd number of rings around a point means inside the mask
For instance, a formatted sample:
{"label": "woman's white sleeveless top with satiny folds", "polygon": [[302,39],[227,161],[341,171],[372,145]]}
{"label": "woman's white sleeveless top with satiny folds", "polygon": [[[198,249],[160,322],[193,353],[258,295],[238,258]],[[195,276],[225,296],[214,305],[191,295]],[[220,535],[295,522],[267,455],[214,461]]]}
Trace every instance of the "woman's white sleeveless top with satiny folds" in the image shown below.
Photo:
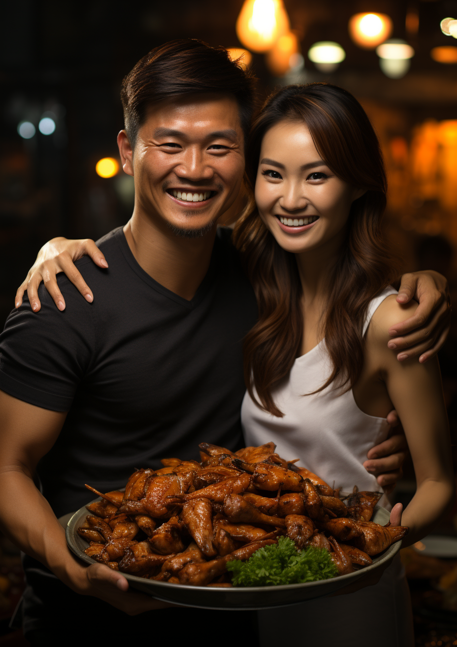
{"label": "woman's white sleeveless top with satiny folds", "polygon": [[[380,303],[398,292],[388,287],[370,301],[363,334]],[[284,416],[277,418],[262,411],[248,392],[241,408],[246,446],[273,441],[277,453],[286,460],[299,458],[297,465],[306,467],[331,487],[352,492],[380,491],[376,477],[363,467],[367,452],[382,443],[388,435],[387,419],[363,413],[354,400],[352,389],[341,393],[334,384],[314,395],[331,372],[325,340],[301,357],[297,357],[286,378],[273,389],[275,404]],[[388,506],[386,497],[380,501]]]}

